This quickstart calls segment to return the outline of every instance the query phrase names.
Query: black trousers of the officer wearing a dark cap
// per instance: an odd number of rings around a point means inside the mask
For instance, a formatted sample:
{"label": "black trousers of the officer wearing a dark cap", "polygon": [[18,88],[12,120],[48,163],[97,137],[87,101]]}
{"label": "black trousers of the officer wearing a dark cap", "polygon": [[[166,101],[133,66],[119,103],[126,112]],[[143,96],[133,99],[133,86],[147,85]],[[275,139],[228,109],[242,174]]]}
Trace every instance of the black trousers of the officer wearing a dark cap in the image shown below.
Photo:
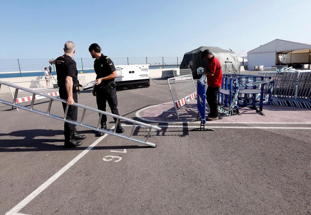
{"label": "black trousers of the officer wearing a dark cap", "polygon": [[[106,111],[106,102],[108,101],[108,105],[111,109],[111,113],[119,115],[118,111],[118,98],[117,98],[117,92],[114,88],[110,92],[106,92],[105,90],[96,90],[96,102],[97,102],[97,108],[99,110]],[[103,115],[101,118],[101,123],[107,121],[107,116]],[[114,118],[114,121],[117,121],[117,118]]]}

